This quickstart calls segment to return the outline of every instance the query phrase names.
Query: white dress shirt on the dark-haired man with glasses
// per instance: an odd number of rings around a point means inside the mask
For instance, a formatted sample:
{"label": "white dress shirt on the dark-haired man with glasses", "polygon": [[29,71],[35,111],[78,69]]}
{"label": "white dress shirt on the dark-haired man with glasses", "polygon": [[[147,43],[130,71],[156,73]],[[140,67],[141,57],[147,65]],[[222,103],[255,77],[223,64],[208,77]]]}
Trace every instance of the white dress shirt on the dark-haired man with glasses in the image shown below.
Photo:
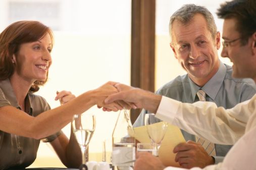
{"label": "white dress shirt on the dark-haired man with glasses", "polygon": [[[156,117],[211,142],[221,144],[236,142],[223,162],[203,169],[255,170],[256,95],[231,109],[217,107],[212,102],[181,103],[163,96]],[[180,169],[183,168],[165,168],[165,170]],[[191,170],[199,169],[201,168],[191,168]]]}

